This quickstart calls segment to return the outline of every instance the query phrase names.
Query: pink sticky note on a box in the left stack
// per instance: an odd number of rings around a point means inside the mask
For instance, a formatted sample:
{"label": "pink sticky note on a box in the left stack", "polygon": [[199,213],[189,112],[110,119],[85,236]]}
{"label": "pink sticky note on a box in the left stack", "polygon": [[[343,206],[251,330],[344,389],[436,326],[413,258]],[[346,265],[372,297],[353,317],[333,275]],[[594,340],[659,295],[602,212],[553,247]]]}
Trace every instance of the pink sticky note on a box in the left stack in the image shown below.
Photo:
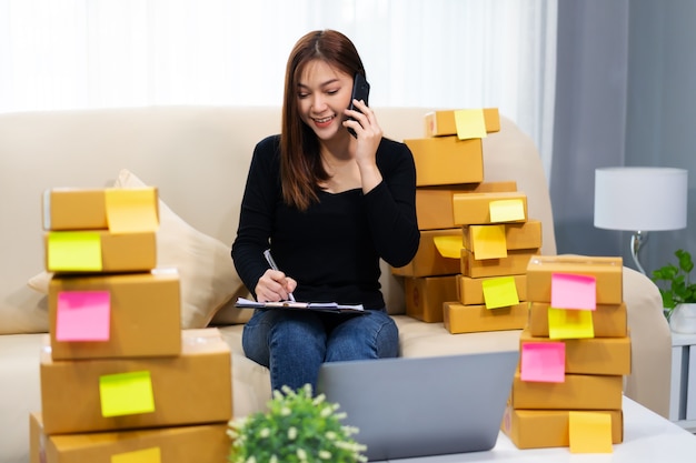
{"label": "pink sticky note on a box in the left stack", "polygon": [[56,314],[57,341],[109,341],[109,291],[61,291]]}

